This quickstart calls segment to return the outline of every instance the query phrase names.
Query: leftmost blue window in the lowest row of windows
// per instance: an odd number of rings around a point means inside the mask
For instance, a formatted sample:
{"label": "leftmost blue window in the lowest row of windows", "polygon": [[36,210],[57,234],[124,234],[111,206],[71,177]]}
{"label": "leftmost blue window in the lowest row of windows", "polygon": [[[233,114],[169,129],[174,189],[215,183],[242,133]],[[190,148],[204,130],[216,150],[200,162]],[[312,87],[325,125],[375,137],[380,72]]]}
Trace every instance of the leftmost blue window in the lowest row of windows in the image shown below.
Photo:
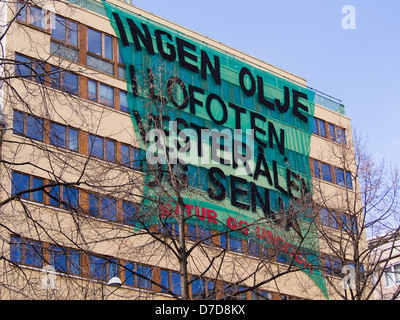
{"label": "leftmost blue window in the lowest row of windows", "polygon": [[43,245],[39,241],[12,236],[10,260],[18,264],[40,268],[43,261]]}

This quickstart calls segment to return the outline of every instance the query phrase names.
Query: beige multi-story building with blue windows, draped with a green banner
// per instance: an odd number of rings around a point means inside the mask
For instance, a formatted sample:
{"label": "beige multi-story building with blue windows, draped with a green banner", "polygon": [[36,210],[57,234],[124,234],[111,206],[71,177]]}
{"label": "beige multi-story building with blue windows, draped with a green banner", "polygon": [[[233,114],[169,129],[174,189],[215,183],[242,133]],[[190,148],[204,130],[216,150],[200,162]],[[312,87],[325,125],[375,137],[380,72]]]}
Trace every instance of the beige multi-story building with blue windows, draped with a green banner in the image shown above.
{"label": "beige multi-story building with blue windows, draped with a green banner", "polygon": [[[122,1],[6,7],[2,298],[340,298],[357,225],[340,101]],[[178,180],[146,161],[167,120],[181,144],[209,135]]]}

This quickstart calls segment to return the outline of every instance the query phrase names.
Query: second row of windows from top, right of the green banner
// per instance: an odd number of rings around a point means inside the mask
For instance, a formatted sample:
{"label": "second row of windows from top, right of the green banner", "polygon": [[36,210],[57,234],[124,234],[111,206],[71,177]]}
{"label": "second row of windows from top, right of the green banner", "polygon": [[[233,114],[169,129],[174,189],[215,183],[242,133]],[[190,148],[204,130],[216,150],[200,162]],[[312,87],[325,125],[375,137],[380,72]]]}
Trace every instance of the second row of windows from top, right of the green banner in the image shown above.
{"label": "second row of windows from top, right of the green banner", "polygon": [[314,178],[332,182],[348,189],[353,189],[353,181],[350,171],[312,159],[311,172]]}

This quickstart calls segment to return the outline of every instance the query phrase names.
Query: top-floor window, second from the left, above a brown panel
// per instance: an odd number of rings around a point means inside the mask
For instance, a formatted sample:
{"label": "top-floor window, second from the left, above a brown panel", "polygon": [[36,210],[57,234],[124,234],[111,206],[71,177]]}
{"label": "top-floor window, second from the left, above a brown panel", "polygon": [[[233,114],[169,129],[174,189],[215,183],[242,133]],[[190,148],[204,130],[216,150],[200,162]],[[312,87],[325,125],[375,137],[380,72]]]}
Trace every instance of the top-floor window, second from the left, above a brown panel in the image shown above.
{"label": "top-floor window, second from the left, above a brown panel", "polygon": [[56,16],[51,29],[50,52],[75,62],[79,61],[78,24]]}

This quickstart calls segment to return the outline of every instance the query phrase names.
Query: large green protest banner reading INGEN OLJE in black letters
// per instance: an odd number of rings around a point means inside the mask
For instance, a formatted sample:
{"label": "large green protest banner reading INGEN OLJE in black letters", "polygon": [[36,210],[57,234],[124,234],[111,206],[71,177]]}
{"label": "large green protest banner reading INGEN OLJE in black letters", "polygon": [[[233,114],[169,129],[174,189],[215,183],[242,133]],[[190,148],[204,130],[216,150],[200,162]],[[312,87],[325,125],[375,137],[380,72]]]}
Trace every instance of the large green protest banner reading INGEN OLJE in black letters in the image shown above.
{"label": "large green protest banner reading INGEN OLJE in black letters", "polygon": [[[126,66],[139,146],[153,168],[181,168],[187,223],[235,231],[233,237],[279,249],[282,259],[302,268],[328,296],[307,201],[314,92],[171,27],[103,4]],[[146,217],[149,225],[160,217],[173,219],[178,211],[168,177],[158,176],[165,180],[161,194],[151,187],[154,176],[144,173],[149,200],[142,205],[151,208],[151,199],[160,197],[164,205]]]}

